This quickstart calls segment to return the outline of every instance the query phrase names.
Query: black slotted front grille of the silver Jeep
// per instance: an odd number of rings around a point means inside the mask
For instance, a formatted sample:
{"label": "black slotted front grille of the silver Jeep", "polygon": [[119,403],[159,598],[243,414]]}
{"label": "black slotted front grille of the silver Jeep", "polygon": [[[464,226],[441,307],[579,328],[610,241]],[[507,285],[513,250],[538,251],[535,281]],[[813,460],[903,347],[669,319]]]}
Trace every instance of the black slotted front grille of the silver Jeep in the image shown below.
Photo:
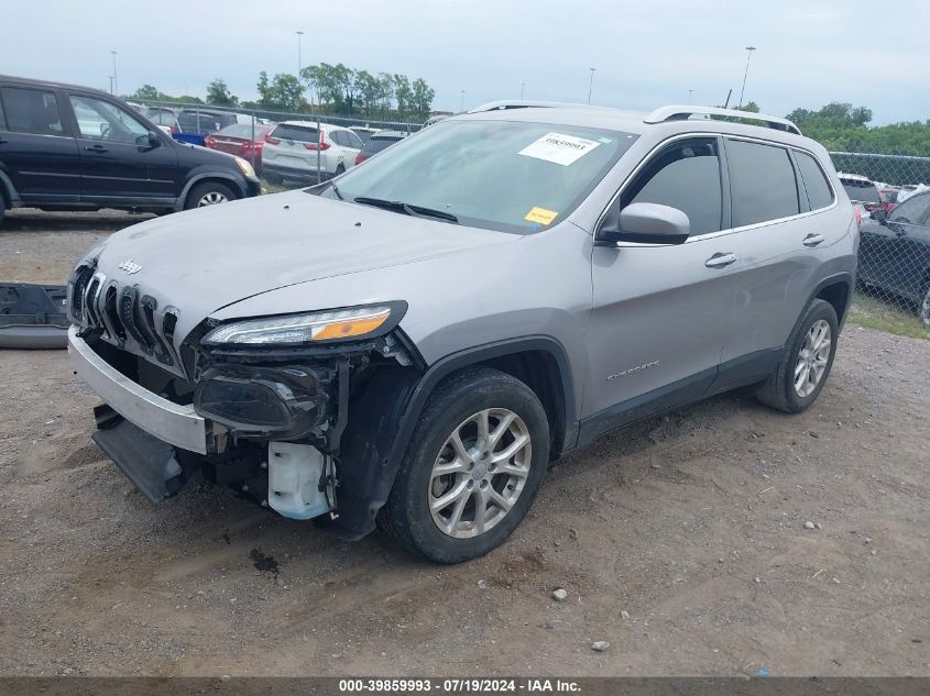
{"label": "black slotted front grille of the silver Jeep", "polygon": [[135,286],[120,287],[90,266],[75,272],[70,310],[84,329],[99,331],[120,349],[135,349],[163,365],[179,367],[174,351],[177,314],[169,309],[158,314],[157,309],[157,300],[141,295]]}

